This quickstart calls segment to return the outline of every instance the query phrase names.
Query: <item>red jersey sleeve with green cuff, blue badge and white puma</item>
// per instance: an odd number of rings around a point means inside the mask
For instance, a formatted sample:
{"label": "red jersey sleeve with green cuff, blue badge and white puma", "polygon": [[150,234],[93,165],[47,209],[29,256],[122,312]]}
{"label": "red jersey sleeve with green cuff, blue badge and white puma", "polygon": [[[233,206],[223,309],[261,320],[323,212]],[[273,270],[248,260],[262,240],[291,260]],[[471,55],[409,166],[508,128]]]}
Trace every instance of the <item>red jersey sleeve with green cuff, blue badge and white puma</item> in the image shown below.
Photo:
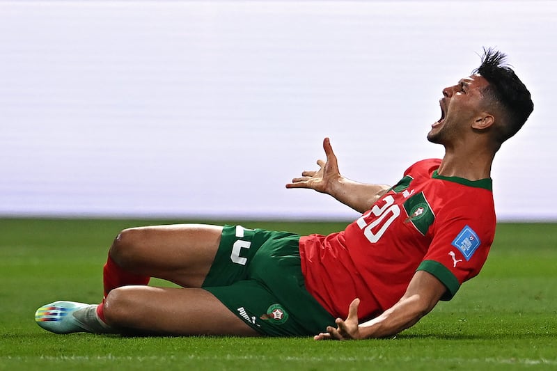
{"label": "red jersey sleeve with green cuff, blue badge and white puma", "polygon": [[417,269],[427,271],[447,287],[441,300],[452,299],[464,281],[480,272],[493,242],[494,212],[481,212],[470,206],[473,203],[462,204],[447,205],[444,210],[448,211],[438,216],[432,242]]}

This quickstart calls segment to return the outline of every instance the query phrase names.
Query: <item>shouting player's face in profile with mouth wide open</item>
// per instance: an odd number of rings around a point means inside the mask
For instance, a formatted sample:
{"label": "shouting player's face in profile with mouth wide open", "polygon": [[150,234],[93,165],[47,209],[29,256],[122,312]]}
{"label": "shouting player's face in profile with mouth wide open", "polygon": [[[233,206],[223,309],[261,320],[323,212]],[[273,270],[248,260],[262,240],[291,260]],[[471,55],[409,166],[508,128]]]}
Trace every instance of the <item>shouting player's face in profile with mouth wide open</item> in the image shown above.
{"label": "shouting player's face in profile with mouth wide open", "polygon": [[427,139],[433,143],[448,144],[464,138],[482,108],[482,90],[489,83],[479,74],[461,79],[458,84],[443,89],[441,118],[433,123]]}

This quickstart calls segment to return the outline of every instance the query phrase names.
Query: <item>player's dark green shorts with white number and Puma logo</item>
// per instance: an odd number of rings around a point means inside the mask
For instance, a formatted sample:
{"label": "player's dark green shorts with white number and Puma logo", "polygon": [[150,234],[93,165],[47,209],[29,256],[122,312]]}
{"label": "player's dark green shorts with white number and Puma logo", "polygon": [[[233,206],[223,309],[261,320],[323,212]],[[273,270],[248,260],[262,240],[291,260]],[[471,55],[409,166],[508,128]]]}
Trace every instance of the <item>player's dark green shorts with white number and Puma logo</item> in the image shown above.
{"label": "player's dark green shorts with white number and Puma logo", "polygon": [[203,288],[267,336],[311,336],[334,326],[301,274],[299,235],[225,226]]}

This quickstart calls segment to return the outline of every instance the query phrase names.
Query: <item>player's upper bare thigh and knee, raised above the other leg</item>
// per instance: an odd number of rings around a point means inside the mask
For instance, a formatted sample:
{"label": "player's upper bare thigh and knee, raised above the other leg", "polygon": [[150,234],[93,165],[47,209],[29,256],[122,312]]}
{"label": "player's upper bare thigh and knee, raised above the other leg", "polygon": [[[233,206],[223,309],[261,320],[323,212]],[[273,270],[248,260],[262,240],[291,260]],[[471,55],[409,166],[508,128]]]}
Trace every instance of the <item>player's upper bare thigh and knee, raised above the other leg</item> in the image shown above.
{"label": "player's upper bare thigh and knee, raised above the other leg", "polygon": [[110,255],[135,274],[201,287],[219,248],[221,232],[220,226],[203,224],[130,228],[116,237]]}

